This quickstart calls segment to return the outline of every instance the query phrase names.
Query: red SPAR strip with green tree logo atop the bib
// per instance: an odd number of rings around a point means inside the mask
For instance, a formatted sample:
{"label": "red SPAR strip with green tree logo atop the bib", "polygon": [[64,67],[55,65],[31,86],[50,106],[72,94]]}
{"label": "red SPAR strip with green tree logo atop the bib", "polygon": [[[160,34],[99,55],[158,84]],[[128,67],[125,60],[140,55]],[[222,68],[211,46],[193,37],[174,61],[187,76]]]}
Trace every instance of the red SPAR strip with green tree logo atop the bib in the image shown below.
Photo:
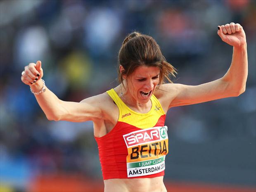
{"label": "red SPAR strip with green tree logo atop the bib", "polygon": [[123,135],[127,147],[167,139],[167,127],[154,127]]}

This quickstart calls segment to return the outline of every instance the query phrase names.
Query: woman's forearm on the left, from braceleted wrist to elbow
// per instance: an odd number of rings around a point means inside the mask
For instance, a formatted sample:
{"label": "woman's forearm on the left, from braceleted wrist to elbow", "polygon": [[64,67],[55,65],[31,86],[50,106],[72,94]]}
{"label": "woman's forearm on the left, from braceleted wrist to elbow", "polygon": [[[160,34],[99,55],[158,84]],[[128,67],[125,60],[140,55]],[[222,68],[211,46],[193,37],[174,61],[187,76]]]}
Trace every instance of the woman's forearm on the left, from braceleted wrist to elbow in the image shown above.
{"label": "woman's forearm on the left, from braceleted wrist to elbow", "polygon": [[[43,87],[43,82],[39,80],[38,82],[30,85],[33,92],[39,92]],[[61,109],[59,98],[51,92],[47,87],[45,92],[40,93],[40,95],[35,95],[38,104],[44,111],[48,120],[58,120],[58,110]]]}

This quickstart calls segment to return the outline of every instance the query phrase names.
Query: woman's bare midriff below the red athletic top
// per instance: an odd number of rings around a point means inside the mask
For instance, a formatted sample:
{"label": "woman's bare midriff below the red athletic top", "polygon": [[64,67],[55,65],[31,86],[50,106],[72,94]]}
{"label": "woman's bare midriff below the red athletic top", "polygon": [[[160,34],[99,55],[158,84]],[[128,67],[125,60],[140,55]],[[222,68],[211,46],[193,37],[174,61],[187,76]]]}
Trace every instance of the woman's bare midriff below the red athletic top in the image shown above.
{"label": "woman's bare midriff below the red athletic top", "polygon": [[104,192],[167,192],[163,178],[107,179]]}

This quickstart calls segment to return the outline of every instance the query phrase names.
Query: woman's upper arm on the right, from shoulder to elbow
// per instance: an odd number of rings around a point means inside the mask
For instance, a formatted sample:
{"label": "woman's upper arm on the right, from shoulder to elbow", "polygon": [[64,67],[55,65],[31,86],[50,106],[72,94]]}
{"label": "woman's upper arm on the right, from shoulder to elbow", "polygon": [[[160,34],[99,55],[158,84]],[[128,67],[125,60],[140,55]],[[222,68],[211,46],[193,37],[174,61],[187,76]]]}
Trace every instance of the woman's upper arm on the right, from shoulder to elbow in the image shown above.
{"label": "woman's upper arm on the right, from shoulder to elbow", "polygon": [[222,78],[201,85],[169,83],[160,86],[162,101],[168,109],[182,105],[197,104],[225,97],[237,96],[230,92],[229,84]]}

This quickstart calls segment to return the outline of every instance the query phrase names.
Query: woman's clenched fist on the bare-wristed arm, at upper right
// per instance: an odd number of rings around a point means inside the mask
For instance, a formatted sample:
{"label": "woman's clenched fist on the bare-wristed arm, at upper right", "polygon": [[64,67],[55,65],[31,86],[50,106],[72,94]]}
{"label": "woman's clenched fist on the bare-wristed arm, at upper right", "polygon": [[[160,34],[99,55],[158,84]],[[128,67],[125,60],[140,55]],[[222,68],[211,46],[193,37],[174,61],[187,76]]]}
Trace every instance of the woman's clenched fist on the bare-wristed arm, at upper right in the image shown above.
{"label": "woman's clenched fist on the bare-wristed arm, at upper right", "polygon": [[230,24],[218,26],[218,35],[225,43],[234,47],[246,44],[244,29],[240,24],[231,22]]}

